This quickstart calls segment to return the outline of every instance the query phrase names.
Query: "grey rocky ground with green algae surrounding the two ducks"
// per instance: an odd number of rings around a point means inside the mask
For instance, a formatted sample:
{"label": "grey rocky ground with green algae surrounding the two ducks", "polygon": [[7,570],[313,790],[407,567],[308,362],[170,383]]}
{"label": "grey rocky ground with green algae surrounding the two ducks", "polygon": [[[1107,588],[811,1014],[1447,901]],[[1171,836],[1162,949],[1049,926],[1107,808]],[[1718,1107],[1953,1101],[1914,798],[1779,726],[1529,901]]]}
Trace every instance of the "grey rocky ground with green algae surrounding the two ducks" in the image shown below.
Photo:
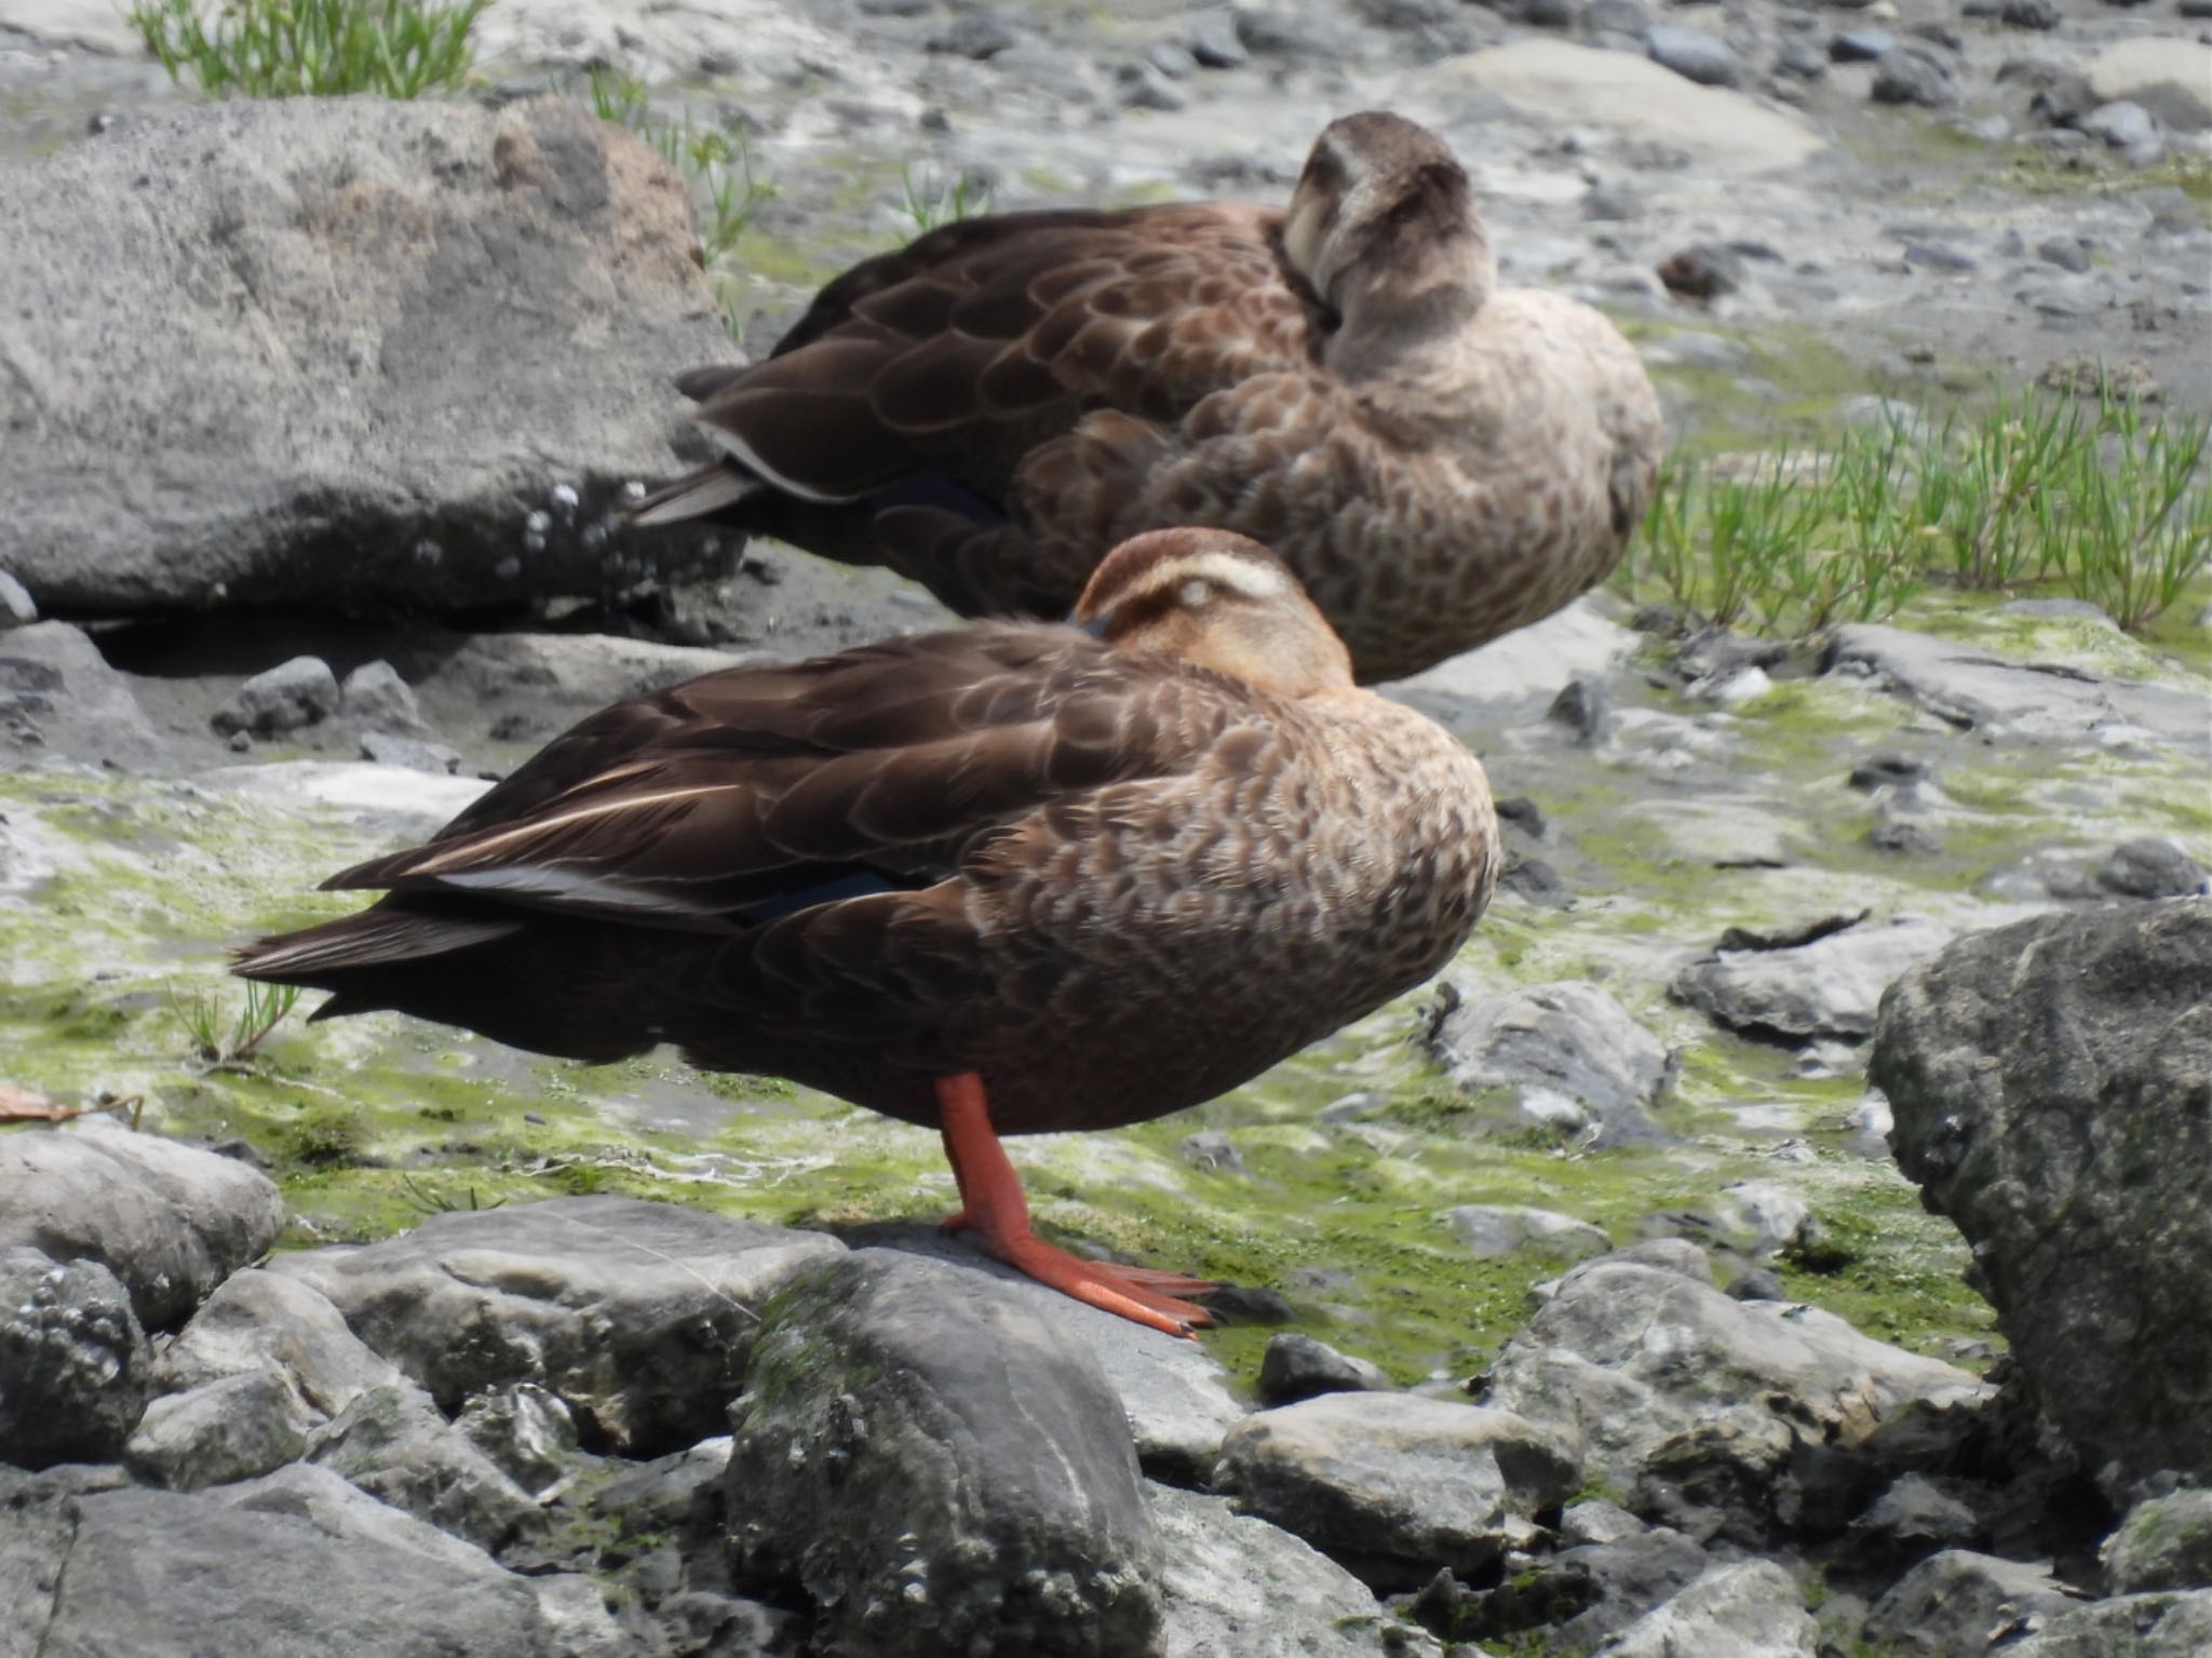
{"label": "grey rocky ground with green algae surrounding the two ducks", "polygon": [[[1389,104],[1681,449],[2099,358],[2203,411],[2194,11],[500,0],[491,99],[190,113],[0,0],[0,1083],[113,1105],[0,1138],[0,1654],[2208,1649],[2203,584],[1809,643],[1595,595],[1398,688],[1504,802],[1460,962],[1015,1147],[1060,1238],[1241,1287],[1203,1349],[938,1240],[931,1136],[237,1052],[221,979],[604,701],[938,619],[604,517],[909,186],[1274,197]],[[595,60],[750,133],[710,276],[533,102]]]}

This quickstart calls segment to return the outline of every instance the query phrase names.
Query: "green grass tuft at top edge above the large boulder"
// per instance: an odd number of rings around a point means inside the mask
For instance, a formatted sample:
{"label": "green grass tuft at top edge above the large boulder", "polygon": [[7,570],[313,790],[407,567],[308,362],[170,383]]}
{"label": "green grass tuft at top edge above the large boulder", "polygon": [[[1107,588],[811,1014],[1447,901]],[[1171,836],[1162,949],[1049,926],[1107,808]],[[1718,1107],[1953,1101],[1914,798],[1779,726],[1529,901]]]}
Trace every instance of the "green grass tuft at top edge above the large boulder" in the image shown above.
{"label": "green grass tuft at top edge above the large boulder", "polygon": [[420,97],[476,66],[491,0],[137,0],[126,13],[177,84],[215,97]]}

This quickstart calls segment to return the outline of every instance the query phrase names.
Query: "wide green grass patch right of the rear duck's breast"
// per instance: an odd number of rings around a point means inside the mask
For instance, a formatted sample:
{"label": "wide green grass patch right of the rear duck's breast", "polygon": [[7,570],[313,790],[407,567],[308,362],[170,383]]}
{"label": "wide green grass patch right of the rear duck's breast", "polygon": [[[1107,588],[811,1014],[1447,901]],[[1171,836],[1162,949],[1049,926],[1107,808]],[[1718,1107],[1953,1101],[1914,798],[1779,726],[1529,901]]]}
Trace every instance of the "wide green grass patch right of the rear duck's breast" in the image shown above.
{"label": "wide green grass patch right of the rear duck's breast", "polygon": [[2055,586],[2143,632],[2212,564],[2208,424],[2110,380],[1809,451],[1672,462],[1615,586],[1778,637],[1880,621],[1918,588]]}

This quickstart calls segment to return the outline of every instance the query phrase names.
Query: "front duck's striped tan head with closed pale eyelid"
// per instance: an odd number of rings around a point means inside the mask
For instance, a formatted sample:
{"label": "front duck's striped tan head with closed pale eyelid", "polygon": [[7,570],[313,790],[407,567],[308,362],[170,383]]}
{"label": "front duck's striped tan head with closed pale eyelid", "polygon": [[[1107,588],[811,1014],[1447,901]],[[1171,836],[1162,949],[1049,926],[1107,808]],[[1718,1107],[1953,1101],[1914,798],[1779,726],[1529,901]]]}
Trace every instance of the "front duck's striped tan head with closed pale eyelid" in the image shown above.
{"label": "front duck's striped tan head with closed pale eyelid", "polygon": [[1068,621],[1276,696],[1352,690],[1352,652],[1274,553],[1228,531],[1148,531],[1108,553]]}

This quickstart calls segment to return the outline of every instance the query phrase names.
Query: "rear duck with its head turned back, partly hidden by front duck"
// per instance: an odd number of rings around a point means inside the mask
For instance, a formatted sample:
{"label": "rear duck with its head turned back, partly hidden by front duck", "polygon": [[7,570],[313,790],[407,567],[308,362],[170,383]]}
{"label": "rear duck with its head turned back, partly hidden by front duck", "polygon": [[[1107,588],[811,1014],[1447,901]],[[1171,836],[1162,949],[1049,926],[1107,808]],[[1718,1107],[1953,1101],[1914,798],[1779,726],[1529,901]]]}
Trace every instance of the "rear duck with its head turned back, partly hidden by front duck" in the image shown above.
{"label": "rear duck with its head turned back, partly hidden by front duck", "polygon": [[1360,683],[1601,581],[1661,451],[1635,349],[1500,290],[1464,168],[1385,113],[1321,133],[1287,212],[964,219],[838,276],[768,360],[677,385],[726,453],[637,524],[887,564],[969,617],[1064,617],[1141,531],[1239,531]]}

